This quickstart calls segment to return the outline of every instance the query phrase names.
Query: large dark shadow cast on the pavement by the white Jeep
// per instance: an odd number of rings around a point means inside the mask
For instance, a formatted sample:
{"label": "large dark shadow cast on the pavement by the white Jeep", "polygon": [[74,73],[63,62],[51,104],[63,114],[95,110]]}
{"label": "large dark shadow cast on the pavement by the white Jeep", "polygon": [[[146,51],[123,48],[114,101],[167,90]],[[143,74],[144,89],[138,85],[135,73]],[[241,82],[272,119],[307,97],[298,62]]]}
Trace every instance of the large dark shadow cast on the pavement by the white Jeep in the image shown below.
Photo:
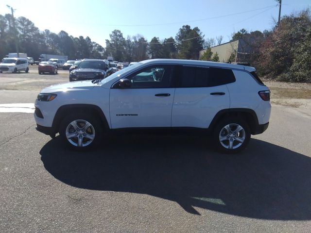
{"label": "large dark shadow cast on the pavement by the white Jeep", "polygon": [[237,155],[220,154],[206,139],[122,135],[100,149],[74,152],[58,138],[41,150],[45,168],[74,187],[149,194],[236,216],[311,219],[311,158],[251,139]]}

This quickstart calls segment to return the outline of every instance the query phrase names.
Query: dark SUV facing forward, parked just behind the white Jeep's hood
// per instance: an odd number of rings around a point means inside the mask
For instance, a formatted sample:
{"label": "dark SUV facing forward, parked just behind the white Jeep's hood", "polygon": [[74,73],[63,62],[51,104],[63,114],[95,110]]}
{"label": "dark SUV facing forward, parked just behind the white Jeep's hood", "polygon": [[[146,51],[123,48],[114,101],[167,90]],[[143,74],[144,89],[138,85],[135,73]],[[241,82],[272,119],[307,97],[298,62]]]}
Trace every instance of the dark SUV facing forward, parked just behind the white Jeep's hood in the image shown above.
{"label": "dark SUV facing forward, parked just behind the white Jeep's hood", "polygon": [[69,82],[81,80],[104,79],[111,74],[108,60],[84,59],[69,74]]}

